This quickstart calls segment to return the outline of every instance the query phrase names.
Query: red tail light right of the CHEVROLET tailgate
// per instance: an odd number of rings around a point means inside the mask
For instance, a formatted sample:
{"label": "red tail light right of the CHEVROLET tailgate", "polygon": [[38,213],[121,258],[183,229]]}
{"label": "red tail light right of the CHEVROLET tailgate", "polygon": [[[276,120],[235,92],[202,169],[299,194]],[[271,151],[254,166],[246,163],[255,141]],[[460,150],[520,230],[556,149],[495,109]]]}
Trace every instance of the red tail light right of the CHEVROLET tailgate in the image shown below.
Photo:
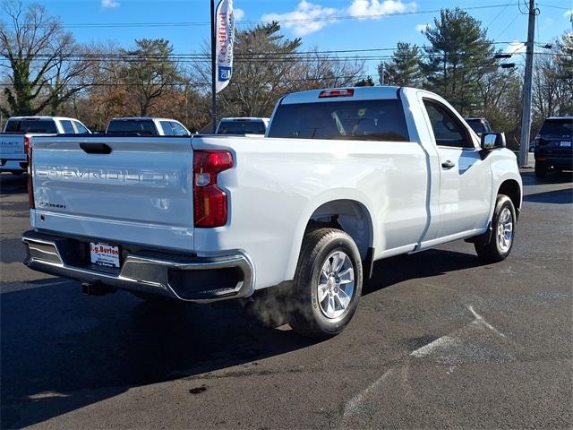
{"label": "red tail light right of the CHEVROLET tailgate", "polygon": [[227,150],[193,151],[193,209],[197,228],[227,224],[227,193],[217,185],[218,173],[233,167]]}

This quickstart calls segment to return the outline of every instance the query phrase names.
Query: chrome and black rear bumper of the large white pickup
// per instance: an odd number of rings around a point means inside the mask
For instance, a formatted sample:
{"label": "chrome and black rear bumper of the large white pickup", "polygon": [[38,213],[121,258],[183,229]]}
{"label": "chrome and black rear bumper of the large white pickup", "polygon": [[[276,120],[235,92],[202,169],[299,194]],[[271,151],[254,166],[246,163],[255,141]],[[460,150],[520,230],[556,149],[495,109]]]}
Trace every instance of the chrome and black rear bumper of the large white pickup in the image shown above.
{"label": "chrome and black rear bumper of the large white pickup", "polygon": [[140,251],[124,255],[121,267],[111,269],[80,259],[71,238],[30,230],[21,240],[30,269],[82,282],[196,303],[249,297],[254,291],[252,262],[242,252],[197,257]]}

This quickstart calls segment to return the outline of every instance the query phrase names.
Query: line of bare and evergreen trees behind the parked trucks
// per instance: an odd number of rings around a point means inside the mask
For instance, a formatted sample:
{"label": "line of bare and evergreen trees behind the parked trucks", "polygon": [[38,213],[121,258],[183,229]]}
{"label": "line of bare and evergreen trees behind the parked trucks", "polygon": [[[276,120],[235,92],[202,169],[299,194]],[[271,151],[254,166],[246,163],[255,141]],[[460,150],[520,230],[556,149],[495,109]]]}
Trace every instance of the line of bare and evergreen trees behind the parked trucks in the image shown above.
{"label": "line of bare and evergreen trees behind the parked trucks", "polygon": [[[167,39],[78,43],[39,4],[4,2],[0,22],[0,109],[4,116],[75,116],[93,130],[113,116],[173,117],[192,131],[210,124],[210,49],[175,54]],[[522,72],[487,29],[462,9],[444,9],[423,30],[427,44],[398,43],[381,59],[378,81],[442,95],[464,116],[485,116],[493,128],[518,135]],[[373,85],[363,56],[303,51],[278,22],[235,35],[233,78],[218,95],[221,116],[270,116],[283,95],[297,90]],[[534,133],[543,118],[573,111],[573,35],[565,34],[535,56]]]}

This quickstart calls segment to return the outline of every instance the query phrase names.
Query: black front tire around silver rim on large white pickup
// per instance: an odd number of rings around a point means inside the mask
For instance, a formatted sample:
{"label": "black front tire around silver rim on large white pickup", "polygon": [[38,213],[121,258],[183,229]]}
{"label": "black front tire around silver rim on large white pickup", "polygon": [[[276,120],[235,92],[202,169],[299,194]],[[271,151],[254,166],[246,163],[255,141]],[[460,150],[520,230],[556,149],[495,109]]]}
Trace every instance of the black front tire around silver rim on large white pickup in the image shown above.
{"label": "black front tire around silver rim on large white pickup", "polygon": [[[500,229],[503,228],[503,226],[500,225],[500,217],[505,216],[504,211],[506,209],[509,211],[509,215],[511,217],[511,237],[509,240],[509,246],[500,244]],[[490,236],[488,242],[475,243],[475,252],[479,259],[488,263],[505,260],[509,253],[511,253],[511,248],[513,248],[516,223],[516,208],[514,207],[513,202],[511,202],[511,199],[507,195],[498,195],[495,203],[495,211],[493,211],[492,236]]]}

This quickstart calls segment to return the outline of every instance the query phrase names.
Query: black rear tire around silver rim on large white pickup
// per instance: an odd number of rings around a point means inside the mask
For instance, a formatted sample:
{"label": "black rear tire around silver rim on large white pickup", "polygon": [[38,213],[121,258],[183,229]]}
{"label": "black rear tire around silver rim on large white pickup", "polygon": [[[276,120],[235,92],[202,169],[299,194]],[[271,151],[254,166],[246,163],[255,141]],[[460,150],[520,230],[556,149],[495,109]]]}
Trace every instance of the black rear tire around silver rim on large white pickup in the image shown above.
{"label": "black rear tire around silver rim on large white pickup", "polygon": [[[338,254],[337,252],[341,252]],[[344,255],[343,255],[344,254]],[[337,256],[338,255],[338,256]],[[331,257],[331,258],[330,258]],[[335,262],[336,258],[336,262]],[[347,259],[347,261],[346,261]],[[321,280],[321,271],[323,265],[327,264],[329,260],[330,265],[340,263],[339,271],[331,275],[327,281],[328,288],[322,288],[322,294],[325,298],[322,302],[319,301],[319,281]],[[350,274],[350,266],[352,264],[352,275]],[[352,276],[354,279],[345,283],[348,287],[342,287],[342,269],[346,272],[345,277]],[[332,268],[331,268],[332,269]],[[319,228],[309,231],[304,236],[301,254],[298,260],[295,275],[295,285],[292,289],[292,302],[290,312],[290,326],[299,334],[315,339],[325,339],[337,335],[343,331],[346,325],[350,322],[355,314],[356,307],[360,300],[362,293],[363,283],[363,269],[362,261],[358,247],[352,237],[348,236],[344,231],[336,228]],[[338,279],[338,273],[341,275]],[[350,292],[351,284],[353,286]],[[324,291],[329,291],[324,293]],[[346,306],[342,305],[339,295],[349,297]],[[336,296],[336,297],[334,297]],[[342,296],[340,296],[342,297]],[[324,305],[324,300],[334,306],[328,304]],[[334,313],[332,317],[328,317],[322,306],[326,306]],[[336,310],[338,307],[338,310]],[[336,314],[341,312],[341,314]]]}

